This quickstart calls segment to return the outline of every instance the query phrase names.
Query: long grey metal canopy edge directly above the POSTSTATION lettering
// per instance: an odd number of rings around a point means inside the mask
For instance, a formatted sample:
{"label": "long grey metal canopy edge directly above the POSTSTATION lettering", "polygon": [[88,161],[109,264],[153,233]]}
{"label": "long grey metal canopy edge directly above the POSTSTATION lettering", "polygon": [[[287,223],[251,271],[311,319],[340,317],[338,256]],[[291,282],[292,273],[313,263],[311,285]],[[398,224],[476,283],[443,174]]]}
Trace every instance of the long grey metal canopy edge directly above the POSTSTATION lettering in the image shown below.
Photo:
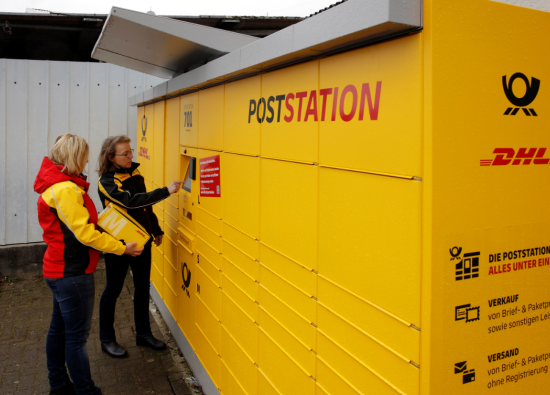
{"label": "long grey metal canopy edge directly above the POSTSTATION lettering", "polygon": [[349,0],[164,82],[164,95],[151,88],[131,102],[144,105],[421,28],[422,0]]}

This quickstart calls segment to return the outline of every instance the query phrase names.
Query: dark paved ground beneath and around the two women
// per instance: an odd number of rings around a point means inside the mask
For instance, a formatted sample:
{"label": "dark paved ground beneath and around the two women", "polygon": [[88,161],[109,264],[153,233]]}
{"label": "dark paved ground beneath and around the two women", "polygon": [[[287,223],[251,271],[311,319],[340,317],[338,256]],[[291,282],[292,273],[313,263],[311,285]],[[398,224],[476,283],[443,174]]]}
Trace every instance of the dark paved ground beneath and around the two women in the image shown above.
{"label": "dark paved ground beneath and around the two women", "polygon": [[[115,319],[117,340],[130,356],[113,359],[101,351],[98,306],[105,287],[101,262],[95,280],[96,302],[87,349],[92,377],[103,394],[202,394],[153,305],[150,318],[153,335],[164,338],[168,348],[154,351],[136,346],[131,274],[118,300]],[[2,278],[0,285],[0,394],[48,394],[46,335],[52,293],[42,276],[36,274],[26,279]]]}

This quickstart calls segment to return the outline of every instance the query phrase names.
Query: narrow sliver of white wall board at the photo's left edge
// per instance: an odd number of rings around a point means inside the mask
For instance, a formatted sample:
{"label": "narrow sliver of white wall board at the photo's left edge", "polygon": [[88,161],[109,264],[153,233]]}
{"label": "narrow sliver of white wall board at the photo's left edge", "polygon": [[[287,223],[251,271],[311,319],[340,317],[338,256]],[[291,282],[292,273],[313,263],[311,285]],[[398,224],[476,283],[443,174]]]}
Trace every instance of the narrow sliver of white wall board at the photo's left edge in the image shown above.
{"label": "narrow sliver of white wall board at the photo's left edge", "polygon": [[0,245],[6,244],[6,59],[0,59]]}

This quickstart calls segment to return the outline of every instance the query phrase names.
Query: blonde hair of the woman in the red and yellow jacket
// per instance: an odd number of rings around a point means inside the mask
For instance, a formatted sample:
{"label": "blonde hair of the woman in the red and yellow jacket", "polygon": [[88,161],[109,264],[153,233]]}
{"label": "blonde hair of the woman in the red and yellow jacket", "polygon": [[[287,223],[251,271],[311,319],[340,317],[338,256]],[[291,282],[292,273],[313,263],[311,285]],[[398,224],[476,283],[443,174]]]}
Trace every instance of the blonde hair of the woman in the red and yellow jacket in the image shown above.
{"label": "blonde hair of the woman in the red and yellow jacket", "polygon": [[90,148],[86,140],[74,134],[59,136],[50,152],[50,160],[63,166],[69,174],[80,174],[88,161]]}

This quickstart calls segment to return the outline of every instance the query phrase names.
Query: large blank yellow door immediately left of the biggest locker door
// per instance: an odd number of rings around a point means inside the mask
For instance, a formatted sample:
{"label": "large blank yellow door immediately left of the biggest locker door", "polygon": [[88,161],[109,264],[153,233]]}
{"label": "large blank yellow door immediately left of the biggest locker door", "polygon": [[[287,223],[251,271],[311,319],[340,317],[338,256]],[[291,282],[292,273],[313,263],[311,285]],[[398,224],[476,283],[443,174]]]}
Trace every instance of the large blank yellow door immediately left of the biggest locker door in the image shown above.
{"label": "large blank yellow door immediately left of the biggest locker door", "polygon": [[316,269],[319,168],[270,159],[261,166],[261,242]]}

